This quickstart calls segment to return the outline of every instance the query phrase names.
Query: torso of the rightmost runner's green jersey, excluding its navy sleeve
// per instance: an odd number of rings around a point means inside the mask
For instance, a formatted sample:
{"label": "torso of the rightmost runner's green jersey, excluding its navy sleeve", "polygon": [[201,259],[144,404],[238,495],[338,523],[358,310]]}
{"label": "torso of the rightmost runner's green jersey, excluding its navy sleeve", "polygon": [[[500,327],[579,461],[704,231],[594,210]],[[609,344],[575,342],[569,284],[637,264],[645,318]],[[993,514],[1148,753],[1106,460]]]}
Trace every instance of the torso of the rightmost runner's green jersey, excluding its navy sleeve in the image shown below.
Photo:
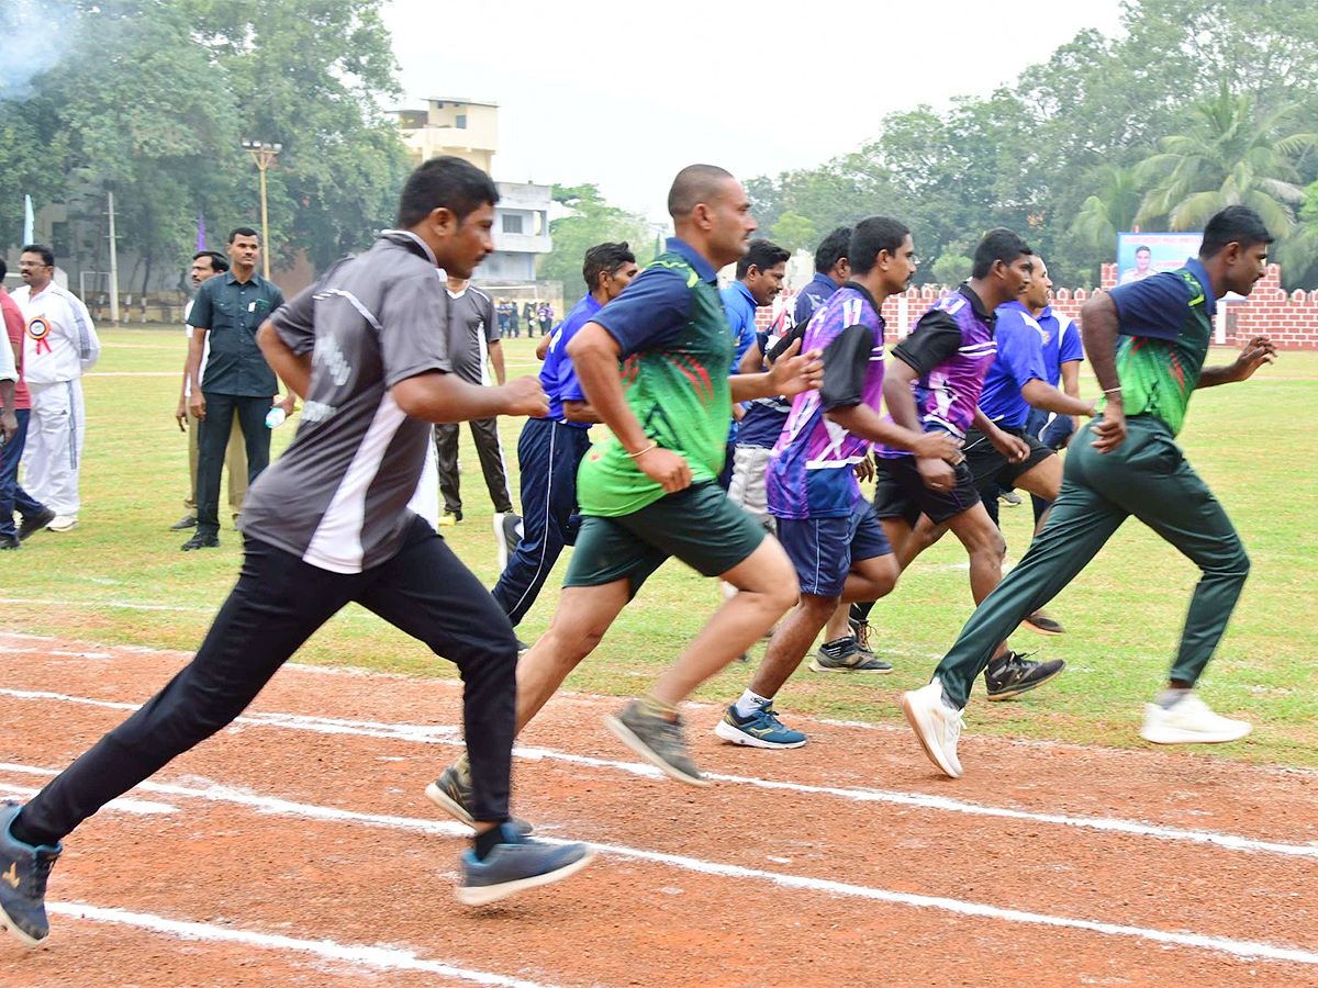
{"label": "torso of the rightmost runner's green jersey, excluding its navy sleeve", "polygon": [[1155,415],[1174,436],[1185,424],[1190,395],[1199,385],[1213,341],[1213,319],[1207,311],[1211,286],[1199,285],[1189,267],[1173,274],[1184,278],[1190,290],[1181,332],[1174,340],[1123,336],[1116,348],[1116,374],[1126,415]]}

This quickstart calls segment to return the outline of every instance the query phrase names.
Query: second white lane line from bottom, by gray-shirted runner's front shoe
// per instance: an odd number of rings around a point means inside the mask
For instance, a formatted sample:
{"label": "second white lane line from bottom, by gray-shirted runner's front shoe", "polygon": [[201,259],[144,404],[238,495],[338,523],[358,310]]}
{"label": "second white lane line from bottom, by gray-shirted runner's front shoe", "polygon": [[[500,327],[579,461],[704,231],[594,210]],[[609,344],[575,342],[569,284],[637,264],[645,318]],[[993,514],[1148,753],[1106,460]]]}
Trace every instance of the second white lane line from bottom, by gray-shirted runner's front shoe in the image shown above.
{"label": "second white lane line from bottom, by gray-shirted runner's front shoe", "polygon": [[[28,765],[0,765],[0,769],[28,771],[28,772],[45,771]],[[215,788],[208,790],[190,790],[183,786],[158,785],[153,782],[146,782],[140,788],[149,789],[152,792],[169,792],[175,796],[191,796],[195,793],[199,798],[210,801],[235,802],[244,806],[250,806],[252,809],[257,809],[261,811],[279,813],[279,814],[304,817],[311,819],[358,823],[366,826],[382,825],[390,829],[414,830],[423,834],[436,833],[436,827],[443,827],[444,830],[442,833],[452,833],[452,830],[469,833],[467,831],[465,827],[459,827],[459,825],[456,823],[443,823],[443,822],[436,823],[435,821],[414,819],[409,817],[382,817],[377,814],[355,813],[351,810],[340,810],[330,806],[314,806],[307,804],[298,804],[298,802],[291,802],[289,800],[248,796],[237,793],[236,790],[227,790],[221,788]],[[550,843],[563,843],[563,842],[550,840]],[[668,865],[672,868],[679,868],[681,871],[691,871],[717,877],[770,881],[775,885],[788,889],[799,889],[805,892],[824,892],[834,896],[866,898],[870,901],[888,902],[892,905],[904,905],[916,909],[937,909],[946,913],[956,913],[958,916],[973,916],[986,919],[1000,919],[1004,922],[1017,922],[1017,923],[1031,923],[1039,926],[1052,926],[1058,929],[1083,930],[1086,933],[1098,933],[1108,937],[1133,937],[1137,939],[1147,939],[1157,943],[1169,943],[1181,947],[1195,947],[1201,950],[1219,951],[1239,958],[1265,958],[1269,960],[1290,960],[1301,964],[1318,964],[1318,954],[1313,951],[1298,950],[1294,947],[1278,947],[1272,943],[1260,943],[1256,941],[1236,941],[1224,937],[1209,937],[1194,933],[1173,933],[1166,930],[1155,930],[1143,926],[1128,926],[1124,923],[1102,922],[1097,919],[1075,919],[1062,916],[1050,916],[1048,913],[1031,913],[1021,909],[1003,909],[1000,906],[988,905],[986,902],[970,902],[960,898],[950,898],[946,896],[920,896],[907,892],[891,892],[888,889],[870,888],[867,885],[854,885],[845,881],[832,881],[829,879],[812,879],[803,875],[786,875],[783,872],[764,871],[760,868],[747,868],[737,864],[721,864],[718,862],[706,862],[700,858],[688,858],[685,855],[664,854],[662,851],[646,851],[642,848],[627,847],[623,844],[593,844],[593,847],[596,847],[596,850],[598,851],[602,851],[604,854],[610,854],[630,860],[650,862],[655,864]],[[63,906],[63,909],[75,910],[76,906]]]}

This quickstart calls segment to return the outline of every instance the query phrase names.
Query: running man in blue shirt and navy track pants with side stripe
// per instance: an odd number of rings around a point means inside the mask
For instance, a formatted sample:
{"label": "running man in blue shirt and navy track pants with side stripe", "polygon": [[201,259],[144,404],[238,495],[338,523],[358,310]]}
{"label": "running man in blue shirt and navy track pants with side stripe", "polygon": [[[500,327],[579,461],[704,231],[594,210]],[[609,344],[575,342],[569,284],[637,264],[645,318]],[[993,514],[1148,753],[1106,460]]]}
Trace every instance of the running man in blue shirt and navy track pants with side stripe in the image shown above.
{"label": "running man in blue shirt and navy track pants with side stripe", "polygon": [[600,420],[581,393],[568,344],[639,273],[627,244],[597,244],[587,250],[581,267],[587,294],[546,337],[540,385],[550,399],[550,414],[527,419],[517,441],[522,537],[492,591],[513,627],[531,610],[563,547],[576,541],[576,473],[590,448],[590,425]]}

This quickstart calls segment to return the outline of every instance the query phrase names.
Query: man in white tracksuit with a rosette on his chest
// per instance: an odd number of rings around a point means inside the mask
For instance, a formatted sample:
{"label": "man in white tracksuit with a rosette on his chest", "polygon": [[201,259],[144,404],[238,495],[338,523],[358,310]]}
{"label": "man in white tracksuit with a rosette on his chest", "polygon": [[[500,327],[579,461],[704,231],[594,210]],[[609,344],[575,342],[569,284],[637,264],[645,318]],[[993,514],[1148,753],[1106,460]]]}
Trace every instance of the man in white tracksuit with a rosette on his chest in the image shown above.
{"label": "man in white tracksuit with a rosette on his chest", "polygon": [[24,377],[32,391],[22,486],[54,512],[47,527],[66,532],[78,527],[78,466],[86,432],[79,378],[100,358],[100,340],[82,299],[54,283],[50,248],[24,246],[18,273],[24,285],[13,300],[26,329]]}

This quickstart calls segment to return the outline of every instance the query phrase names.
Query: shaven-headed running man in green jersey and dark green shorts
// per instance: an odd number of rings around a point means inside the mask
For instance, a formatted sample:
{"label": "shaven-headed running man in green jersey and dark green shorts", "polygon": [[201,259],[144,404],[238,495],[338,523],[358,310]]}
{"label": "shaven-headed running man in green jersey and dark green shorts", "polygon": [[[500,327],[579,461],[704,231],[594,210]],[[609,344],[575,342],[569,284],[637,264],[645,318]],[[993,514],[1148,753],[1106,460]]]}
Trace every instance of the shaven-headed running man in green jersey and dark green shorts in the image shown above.
{"label": "shaven-headed running man in green jersey and dark green shorts", "polygon": [[[646,578],[676,556],[739,593],[650,693],[608,725],[670,777],[708,785],[687,754],[677,705],[750,648],[797,595],[783,547],[716,482],[731,403],[795,397],[817,386],[820,366],[812,354],[797,356],[795,344],[767,374],[729,377],[733,337],[717,278],[746,253],[755,231],[741,182],[713,165],[691,165],[672,183],[668,212],[676,231],[668,249],[568,346],[612,437],[577,474],[581,532],[548,631],[518,663],[517,725],[535,717]],[[468,776],[467,760],[459,760],[432,786],[431,798],[459,819],[469,817]]]}

